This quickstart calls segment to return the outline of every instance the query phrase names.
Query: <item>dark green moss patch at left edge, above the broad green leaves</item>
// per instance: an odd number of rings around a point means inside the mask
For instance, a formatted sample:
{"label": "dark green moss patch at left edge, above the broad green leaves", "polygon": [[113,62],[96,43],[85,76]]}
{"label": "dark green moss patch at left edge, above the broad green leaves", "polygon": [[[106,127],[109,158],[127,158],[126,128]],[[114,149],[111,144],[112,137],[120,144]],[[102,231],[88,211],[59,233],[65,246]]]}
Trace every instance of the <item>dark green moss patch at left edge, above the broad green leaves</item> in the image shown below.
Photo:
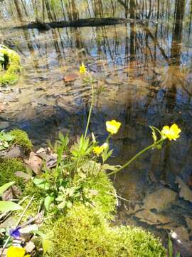
{"label": "dark green moss patch at left edge, above the broad green leaves", "polygon": [[18,158],[0,158],[0,186],[10,181],[23,188],[23,179],[15,176],[16,171],[26,172],[26,166]]}

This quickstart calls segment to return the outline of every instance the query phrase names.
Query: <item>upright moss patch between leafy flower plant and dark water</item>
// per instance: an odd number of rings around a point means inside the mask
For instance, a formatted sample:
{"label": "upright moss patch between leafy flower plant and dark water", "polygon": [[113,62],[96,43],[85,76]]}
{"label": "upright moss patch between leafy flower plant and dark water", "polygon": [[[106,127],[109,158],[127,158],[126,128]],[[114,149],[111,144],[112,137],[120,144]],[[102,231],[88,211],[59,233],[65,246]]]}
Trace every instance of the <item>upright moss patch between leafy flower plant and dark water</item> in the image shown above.
{"label": "upright moss patch between leafy flower plant and dark water", "polygon": [[97,176],[90,177],[85,187],[97,192],[92,196],[92,201],[97,210],[107,219],[114,218],[112,213],[116,210],[117,198],[115,197],[114,186],[107,173],[101,171]]}

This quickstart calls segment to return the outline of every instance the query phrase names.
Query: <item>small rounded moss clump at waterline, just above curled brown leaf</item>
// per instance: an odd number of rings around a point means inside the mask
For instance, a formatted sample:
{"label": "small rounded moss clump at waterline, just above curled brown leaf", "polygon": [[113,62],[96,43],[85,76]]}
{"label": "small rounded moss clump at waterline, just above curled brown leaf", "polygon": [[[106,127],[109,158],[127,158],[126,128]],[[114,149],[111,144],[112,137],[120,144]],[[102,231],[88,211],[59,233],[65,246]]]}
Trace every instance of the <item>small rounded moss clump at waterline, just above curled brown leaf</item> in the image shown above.
{"label": "small rounded moss clump at waterline, just above curled brown leaf", "polygon": [[14,136],[13,141],[11,141],[12,145],[16,144],[21,146],[25,153],[28,153],[32,150],[33,144],[31,143],[31,140],[28,138],[28,134],[25,131],[22,131],[21,129],[13,129],[10,131],[10,134],[11,136]]}

